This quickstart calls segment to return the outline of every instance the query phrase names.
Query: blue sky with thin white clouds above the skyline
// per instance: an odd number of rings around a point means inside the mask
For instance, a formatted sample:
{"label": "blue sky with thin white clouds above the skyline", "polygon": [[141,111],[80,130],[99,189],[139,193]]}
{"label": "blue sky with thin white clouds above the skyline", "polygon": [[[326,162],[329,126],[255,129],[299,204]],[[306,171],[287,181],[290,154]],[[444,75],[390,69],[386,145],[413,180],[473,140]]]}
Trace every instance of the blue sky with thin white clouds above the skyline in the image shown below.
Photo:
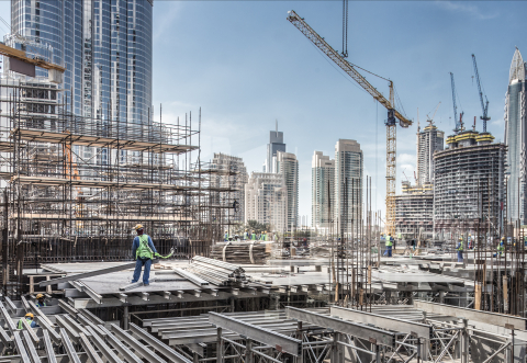
{"label": "blue sky with thin white clouds above the skyline", "polygon": [[[9,1],[0,15],[9,22]],[[341,50],[341,1],[154,1],[154,107],[176,123],[202,112],[201,159],[242,157],[261,171],[269,131],[283,132],[300,167],[300,215],[311,216],[311,160],[332,158],[339,138],[357,140],[365,177],[372,178],[373,209],[384,214],[386,111],[287,21],[305,19]],[[397,127],[397,191],[416,163],[417,109],[451,134],[450,75],[458,112],[482,131],[473,78],[475,54],[490,102],[487,131],[504,137],[504,101],[515,46],[527,57],[524,1],[350,1],[348,61],[393,80],[400,111],[414,125]],[[3,27],[2,27],[3,26]],[[5,26],[0,24],[0,36]],[[388,82],[365,73],[388,98]],[[194,118],[195,117],[195,118]],[[311,220],[311,218],[310,218]]]}

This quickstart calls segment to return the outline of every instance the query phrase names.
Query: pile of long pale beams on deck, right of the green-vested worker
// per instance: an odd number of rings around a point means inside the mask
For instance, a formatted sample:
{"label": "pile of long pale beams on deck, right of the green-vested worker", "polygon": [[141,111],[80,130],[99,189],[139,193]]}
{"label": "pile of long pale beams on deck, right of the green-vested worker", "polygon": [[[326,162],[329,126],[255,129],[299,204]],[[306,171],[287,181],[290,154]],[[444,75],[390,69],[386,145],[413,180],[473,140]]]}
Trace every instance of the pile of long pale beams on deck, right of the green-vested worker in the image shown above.
{"label": "pile of long pale beams on deck, right of the green-vested worker", "polygon": [[245,286],[245,270],[238,265],[197,256],[187,271],[217,286]]}

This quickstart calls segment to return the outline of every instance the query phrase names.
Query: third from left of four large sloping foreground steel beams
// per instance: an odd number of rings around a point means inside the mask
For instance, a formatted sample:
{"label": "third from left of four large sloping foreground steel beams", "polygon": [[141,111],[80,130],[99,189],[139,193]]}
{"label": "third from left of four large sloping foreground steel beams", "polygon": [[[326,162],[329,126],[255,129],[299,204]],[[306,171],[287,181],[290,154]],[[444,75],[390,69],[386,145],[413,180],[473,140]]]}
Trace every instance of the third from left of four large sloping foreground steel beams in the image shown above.
{"label": "third from left of four large sloping foreground steel beams", "polygon": [[345,320],[351,320],[354,322],[373,325],[381,329],[404,332],[412,336],[417,334],[417,337],[425,339],[430,339],[433,334],[433,327],[430,325],[396,319],[338,306],[332,306],[329,309],[329,315]]}

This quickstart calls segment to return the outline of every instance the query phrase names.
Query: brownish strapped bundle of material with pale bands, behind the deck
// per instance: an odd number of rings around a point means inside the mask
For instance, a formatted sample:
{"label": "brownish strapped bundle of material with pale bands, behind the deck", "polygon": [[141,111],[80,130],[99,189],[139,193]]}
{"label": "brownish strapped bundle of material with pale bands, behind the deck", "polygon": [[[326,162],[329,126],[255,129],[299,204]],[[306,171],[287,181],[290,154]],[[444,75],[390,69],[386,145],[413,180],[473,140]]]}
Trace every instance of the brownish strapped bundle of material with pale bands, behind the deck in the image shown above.
{"label": "brownish strapped bundle of material with pale bands, behind the deck", "polygon": [[265,264],[270,257],[269,243],[258,241],[220,242],[212,246],[211,258],[223,262]]}

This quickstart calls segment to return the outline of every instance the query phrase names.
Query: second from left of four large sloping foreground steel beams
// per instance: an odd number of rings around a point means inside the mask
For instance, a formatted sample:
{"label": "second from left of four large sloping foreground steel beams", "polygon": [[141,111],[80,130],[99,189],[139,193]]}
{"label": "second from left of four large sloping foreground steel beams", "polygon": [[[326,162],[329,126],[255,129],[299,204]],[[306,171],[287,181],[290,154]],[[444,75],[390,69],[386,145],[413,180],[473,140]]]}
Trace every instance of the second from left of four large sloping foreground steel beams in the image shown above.
{"label": "second from left of four large sloping foreground steel beams", "polygon": [[332,329],[334,331],[343,332],[352,337],[371,340],[374,339],[378,344],[395,348],[396,333],[373,328],[351,321],[340,320],[338,318],[332,318],[322,314],[298,309],[288,306],[285,308],[288,318],[296,319],[300,321],[313,324],[321,328]]}

